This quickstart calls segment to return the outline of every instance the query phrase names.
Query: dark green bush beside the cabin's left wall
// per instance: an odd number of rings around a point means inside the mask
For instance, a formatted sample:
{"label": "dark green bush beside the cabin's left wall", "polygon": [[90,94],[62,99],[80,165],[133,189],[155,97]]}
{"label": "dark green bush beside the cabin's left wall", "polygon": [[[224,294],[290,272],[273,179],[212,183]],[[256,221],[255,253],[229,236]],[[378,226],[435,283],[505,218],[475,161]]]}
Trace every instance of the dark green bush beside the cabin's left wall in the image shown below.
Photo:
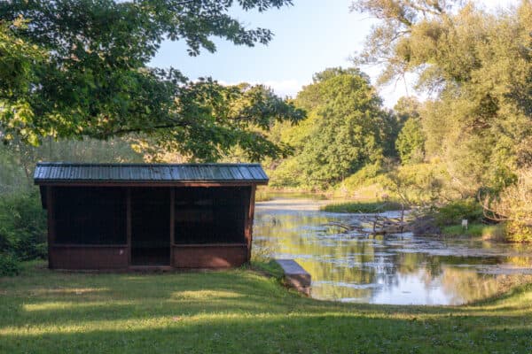
{"label": "dark green bush beside the cabin's left wall", "polygon": [[22,260],[45,258],[46,213],[37,191],[0,199],[0,252]]}

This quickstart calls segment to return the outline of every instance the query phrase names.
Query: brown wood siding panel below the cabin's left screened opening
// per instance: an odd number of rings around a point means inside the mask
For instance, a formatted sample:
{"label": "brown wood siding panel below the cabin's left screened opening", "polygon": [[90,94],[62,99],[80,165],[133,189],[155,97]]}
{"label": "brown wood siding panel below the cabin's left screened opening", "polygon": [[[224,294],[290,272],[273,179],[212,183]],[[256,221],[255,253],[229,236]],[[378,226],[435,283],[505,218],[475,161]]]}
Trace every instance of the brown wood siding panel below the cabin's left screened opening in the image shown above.
{"label": "brown wood siding panel below the cabin's left screened opening", "polygon": [[128,246],[54,246],[48,257],[52,269],[126,269]]}

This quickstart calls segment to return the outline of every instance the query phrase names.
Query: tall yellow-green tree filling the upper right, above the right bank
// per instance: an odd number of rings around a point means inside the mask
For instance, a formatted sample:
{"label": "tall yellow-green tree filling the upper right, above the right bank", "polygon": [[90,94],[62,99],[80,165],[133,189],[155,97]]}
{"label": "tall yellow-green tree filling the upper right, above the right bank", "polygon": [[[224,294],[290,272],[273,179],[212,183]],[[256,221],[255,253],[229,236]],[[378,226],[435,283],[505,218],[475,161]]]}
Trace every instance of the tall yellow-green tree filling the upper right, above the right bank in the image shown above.
{"label": "tall yellow-green tree filling the upper right, above the right bank", "polygon": [[502,189],[526,167],[532,134],[532,3],[489,13],[473,2],[359,0],[381,20],[358,62],[385,66],[380,82],[418,74],[432,93],[420,119],[426,154],[465,194]]}

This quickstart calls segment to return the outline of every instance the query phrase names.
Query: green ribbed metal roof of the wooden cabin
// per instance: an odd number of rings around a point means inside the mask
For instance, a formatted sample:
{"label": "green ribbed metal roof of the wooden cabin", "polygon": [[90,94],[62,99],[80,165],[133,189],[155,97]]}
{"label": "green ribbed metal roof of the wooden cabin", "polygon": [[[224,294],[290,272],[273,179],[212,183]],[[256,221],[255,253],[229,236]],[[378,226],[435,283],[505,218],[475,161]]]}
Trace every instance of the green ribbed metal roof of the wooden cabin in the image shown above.
{"label": "green ribbed metal roof of the wooden cabin", "polygon": [[38,163],[35,184],[51,182],[268,183],[259,164],[76,164]]}

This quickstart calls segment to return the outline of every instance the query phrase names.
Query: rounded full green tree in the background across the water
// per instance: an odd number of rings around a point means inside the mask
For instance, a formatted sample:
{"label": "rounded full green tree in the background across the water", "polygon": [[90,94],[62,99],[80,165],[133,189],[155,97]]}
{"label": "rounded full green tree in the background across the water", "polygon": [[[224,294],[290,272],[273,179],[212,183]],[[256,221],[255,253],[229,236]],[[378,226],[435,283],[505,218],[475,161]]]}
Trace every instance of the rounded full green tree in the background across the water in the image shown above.
{"label": "rounded full green tree in the background across the water", "polygon": [[388,112],[360,70],[317,73],[295,104],[309,110],[309,119],[285,134],[295,153],[278,167],[283,181],[292,175],[300,186],[323,189],[382,158]]}

